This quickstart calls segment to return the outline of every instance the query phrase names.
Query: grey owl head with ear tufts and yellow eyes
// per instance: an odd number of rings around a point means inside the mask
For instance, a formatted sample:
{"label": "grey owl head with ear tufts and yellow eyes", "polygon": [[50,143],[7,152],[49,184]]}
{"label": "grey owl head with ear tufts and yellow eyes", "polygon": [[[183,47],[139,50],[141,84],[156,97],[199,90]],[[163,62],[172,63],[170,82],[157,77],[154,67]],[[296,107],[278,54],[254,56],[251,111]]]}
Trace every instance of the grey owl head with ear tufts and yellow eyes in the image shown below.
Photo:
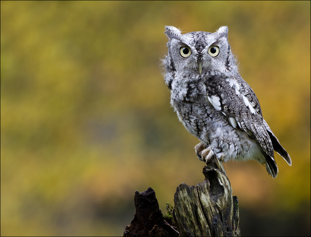
{"label": "grey owl head with ear tufts and yellow eyes", "polygon": [[181,34],[174,26],[165,26],[169,39],[165,58],[167,72],[178,73],[228,73],[236,69],[234,56],[228,43],[228,27],[215,33],[197,31]]}

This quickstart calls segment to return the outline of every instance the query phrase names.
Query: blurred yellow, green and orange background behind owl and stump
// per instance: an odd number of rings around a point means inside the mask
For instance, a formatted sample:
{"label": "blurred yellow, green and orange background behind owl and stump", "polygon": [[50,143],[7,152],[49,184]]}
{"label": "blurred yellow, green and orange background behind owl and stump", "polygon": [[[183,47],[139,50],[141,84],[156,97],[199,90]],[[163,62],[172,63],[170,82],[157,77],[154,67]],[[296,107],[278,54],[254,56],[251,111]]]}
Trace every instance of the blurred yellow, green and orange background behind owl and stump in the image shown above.
{"label": "blurred yellow, green and orange background behind owl and stump", "polygon": [[1,1],[1,236],[123,235],[204,180],[170,107],[164,25],[229,27],[240,74],[292,159],[225,164],[242,235],[310,236],[310,1]]}

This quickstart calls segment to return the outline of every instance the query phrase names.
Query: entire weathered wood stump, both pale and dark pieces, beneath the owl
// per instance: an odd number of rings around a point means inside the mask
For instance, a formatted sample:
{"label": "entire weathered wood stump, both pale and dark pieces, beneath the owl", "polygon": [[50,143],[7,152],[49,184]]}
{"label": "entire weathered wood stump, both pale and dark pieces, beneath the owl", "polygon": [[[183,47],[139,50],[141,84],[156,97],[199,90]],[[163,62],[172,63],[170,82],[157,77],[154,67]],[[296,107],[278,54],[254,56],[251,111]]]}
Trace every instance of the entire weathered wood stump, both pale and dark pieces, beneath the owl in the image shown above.
{"label": "entire weathered wood stump, both pale and dark pieces, beneath the owl", "polygon": [[123,236],[240,236],[238,199],[222,162],[214,160],[203,174],[202,183],[177,187],[174,223],[162,215],[153,189],[136,191],[134,218]]}

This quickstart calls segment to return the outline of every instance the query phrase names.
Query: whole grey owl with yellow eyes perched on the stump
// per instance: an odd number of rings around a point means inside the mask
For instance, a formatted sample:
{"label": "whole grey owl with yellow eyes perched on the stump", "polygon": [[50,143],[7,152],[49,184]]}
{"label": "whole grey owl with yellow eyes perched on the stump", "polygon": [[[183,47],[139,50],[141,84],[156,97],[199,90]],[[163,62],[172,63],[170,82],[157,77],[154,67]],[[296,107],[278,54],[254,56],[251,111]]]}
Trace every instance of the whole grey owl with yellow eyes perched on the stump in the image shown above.
{"label": "whole grey owl with yellow eyes perched on the stump", "polygon": [[290,156],[262,117],[257,96],[239,74],[228,27],[181,34],[165,26],[164,33],[169,39],[165,84],[179,120],[201,141],[195,146],[197,157],[206,163],[253,159],[275,178],[275,150],[291,166]]}

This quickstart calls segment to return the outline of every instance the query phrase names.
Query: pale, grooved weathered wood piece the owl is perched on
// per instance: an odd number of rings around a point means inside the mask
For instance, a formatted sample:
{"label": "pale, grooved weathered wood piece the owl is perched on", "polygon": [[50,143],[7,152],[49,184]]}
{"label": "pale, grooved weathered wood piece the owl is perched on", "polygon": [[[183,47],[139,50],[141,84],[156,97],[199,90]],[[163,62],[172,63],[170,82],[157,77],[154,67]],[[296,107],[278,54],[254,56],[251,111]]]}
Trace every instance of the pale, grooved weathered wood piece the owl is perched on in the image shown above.
{"label": "pale, grooved weathered wood piece the owl is perched on", "polygon": [[239,206],[218,159],[203,168],[205,180],[182,183],[174,195],[173,219],[180,236],[240,236]]}

